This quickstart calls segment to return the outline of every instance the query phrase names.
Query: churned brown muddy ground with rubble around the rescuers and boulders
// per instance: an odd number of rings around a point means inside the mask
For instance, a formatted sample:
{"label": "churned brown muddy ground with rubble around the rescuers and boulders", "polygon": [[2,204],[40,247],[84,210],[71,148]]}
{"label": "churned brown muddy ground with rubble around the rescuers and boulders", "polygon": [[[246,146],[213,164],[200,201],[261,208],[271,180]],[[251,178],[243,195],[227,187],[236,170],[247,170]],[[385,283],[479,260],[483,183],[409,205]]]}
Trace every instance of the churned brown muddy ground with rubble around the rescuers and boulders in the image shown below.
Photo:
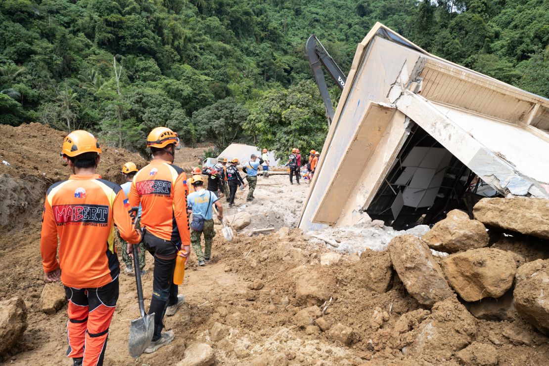
{"label": "churned brown muddy ground with rubble around the rescuers and boulders", "polygon": [[[15,142],[9,145],[28,134],[33,138],[25,151]],[[0,179],[10,182],[0,188],[0,217],[6,220],[0,222],[0,300],[20,296],[29,308],[23,339],[0,358],[3,364],[72,364],[64,357],[66,306],[52,316],[40,311],[44,286],[40,212],[46,187],[69,175],[59,161],[62,137],[63,133],[42,125],[0,126],[0,160],[10,162],[10,167],[0,165]],[[118,159],[117,154],[122,157]],[[119,179],[117,167],[127,159],[138,157],[105,149],[100,171],[107,179]],[[295,225],[308,189],[307,185],[289,186],[288,176],[283,175],[260,178],[257,199],[251,204],[244,201],[247,192],[239,192],[238,207],[227,214],[250,212],[250,226],[231,243],[224,241],[217,226],[212,263],[197,268],[194,258],[189,261],[180,287],[186,304],[175,316],[166,317],[166,328],[175,331],[175,340],[137,361],[127,353],[130,320],[138,315],[135,279],[121,274],[105,364],[176,364],[186,346],[196,341],[210,344],[217,364],[225,365],[459,364],[456,354],[470,342],[490,345],[488,353],[494,354],[489,356],[500,365],[549,363],[549,339],[519,317],[477,319],[463,312],[457,300],[431,310],[420,306],[399,278],[387,272],[386,252],[361,247],[360,256],[348,250],[338,262],[322,266],[322,254],[334,249],[310,240],[298,229],[246,235],[250,228],[278,230]],[[144,294],[150,298],[152,257],[148,254],[145,269]],[[387,290],[372,290],[372,278],[387,273]],[[304,295],[300,285],[310,291]],[[324,303],[322,298],[332,300]],[[312,306],[318,308],[309,310],[310,315],[302,312]],[[219,331],[212,334],[214,325],[220,328],[216,322],[226,336],[220,338]],[[338,324],[352,329],[348,346],[327,329]]]}

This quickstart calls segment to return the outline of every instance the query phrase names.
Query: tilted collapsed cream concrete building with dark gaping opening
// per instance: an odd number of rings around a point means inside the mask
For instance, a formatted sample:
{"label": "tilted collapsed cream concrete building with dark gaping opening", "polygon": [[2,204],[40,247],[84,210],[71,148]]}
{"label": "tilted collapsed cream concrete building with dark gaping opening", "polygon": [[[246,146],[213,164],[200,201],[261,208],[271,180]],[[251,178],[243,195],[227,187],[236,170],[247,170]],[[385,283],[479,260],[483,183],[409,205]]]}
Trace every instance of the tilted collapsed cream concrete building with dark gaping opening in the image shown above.
{"label": "tilted collapsed cream concrete building with dark gaping opening", "polygon": [[549,100],[377,23],[358,44],[299,227],[430,224],[481,197],[549,197]]}

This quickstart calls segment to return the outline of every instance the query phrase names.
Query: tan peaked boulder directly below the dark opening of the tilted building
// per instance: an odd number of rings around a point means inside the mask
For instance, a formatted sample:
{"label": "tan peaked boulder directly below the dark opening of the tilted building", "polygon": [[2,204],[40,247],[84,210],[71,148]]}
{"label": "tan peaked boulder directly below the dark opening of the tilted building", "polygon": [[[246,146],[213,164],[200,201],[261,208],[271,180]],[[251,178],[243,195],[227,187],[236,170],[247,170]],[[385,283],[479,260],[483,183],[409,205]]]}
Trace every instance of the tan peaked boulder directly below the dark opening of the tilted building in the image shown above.
{"label": "tan peaked boulder directly below the dark opening of the tilted building", "polygon": [[451,210],[446,219],[439,221],[423,237],[430,248],[447,253],[488,246],[488,233],[484,224],[470,220],[460,210]]}

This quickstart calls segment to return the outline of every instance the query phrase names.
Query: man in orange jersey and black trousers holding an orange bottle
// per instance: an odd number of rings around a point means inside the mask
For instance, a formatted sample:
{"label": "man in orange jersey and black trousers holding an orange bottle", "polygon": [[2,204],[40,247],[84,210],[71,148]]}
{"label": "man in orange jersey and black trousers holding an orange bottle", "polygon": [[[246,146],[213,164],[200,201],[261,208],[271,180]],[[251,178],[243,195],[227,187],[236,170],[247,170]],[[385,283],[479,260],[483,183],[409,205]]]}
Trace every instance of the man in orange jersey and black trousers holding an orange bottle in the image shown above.
{"label": "man in orange jersey and black trousers holding an orange bottle", "polygon": [[[130,203],[141,203],[141,228],[144,245],[154,256],[153,296],[149,314],[154,313],[154,335],[145,353],[152,353],[173,340],[173,331],[161,333],[164,314],[175,314],[184,296],[177,295],[173,270],[181,245],[191,253],[191,235],[187,217],[187,176],[183,169],[172,165],[177,134],[166,127],[156,127],[147,136],[147,146],[153,160],[133,178]],[[133,248],[128,245],[128,253]]]}

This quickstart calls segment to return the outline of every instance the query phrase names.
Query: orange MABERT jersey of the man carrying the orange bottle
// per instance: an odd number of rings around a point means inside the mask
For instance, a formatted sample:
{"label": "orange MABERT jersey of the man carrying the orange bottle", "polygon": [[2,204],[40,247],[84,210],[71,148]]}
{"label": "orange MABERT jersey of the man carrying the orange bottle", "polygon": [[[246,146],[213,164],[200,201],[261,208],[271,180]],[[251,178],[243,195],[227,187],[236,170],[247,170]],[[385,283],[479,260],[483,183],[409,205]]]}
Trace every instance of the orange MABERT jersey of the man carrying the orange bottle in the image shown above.
{"label": "orange MABERT jersey of the man carrying the orange bottle", "polygon": [[128,199],[141,203],[141,227],[155,237],[191,245],[187,175],[176,165],[153,160],[133,178]]}

